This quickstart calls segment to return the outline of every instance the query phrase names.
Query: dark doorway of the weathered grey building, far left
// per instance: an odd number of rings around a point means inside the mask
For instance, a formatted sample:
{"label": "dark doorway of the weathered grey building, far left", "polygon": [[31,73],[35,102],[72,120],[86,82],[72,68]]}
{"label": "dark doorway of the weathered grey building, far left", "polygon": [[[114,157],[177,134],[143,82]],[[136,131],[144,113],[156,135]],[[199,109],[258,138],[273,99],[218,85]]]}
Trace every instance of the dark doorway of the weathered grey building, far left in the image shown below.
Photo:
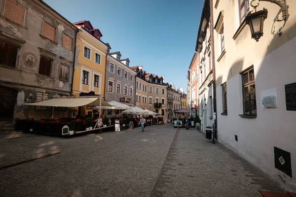
{"label": "dark doorway of the weathered grey building, far left", "polygon": [[0,86],[0,121],[12,121],[17,91]]}

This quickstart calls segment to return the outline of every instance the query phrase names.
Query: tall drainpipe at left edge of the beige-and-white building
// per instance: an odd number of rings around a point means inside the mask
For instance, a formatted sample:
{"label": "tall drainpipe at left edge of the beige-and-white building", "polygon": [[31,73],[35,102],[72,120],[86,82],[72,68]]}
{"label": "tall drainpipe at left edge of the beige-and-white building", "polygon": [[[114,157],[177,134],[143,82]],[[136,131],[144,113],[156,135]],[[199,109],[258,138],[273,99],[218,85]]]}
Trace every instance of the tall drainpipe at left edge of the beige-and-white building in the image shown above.
{"label": "tall drainpipe at left edge of the beige-and-white building", "polygon": [[[214,113],[216,113],[216,130],[217,130],[217,103],[216,103],[216,66],[215,66],[215,45],[214,45],[214,19],[213,19],[213,0],[210,0],[210,10],[211,10],[211,41],[212,41],[212,64],[213,64],[213,96],[214,96]],[[218,131],[217,131],[218,132]],[[218,139],[218,138],[217,138]]]}

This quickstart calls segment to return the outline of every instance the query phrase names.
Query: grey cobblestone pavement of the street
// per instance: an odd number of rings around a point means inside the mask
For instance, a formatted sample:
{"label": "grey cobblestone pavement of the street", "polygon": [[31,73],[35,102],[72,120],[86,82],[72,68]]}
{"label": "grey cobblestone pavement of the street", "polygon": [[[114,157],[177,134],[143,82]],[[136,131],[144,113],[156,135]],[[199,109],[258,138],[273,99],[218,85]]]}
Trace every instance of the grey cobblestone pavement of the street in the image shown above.
{"label": "grey cobblestone pavement of the street", "polygon": [[0,166],[1,197],[259,197],[258,189],[284,190],[204,133],[169,125],[69,139],[4,136]]}

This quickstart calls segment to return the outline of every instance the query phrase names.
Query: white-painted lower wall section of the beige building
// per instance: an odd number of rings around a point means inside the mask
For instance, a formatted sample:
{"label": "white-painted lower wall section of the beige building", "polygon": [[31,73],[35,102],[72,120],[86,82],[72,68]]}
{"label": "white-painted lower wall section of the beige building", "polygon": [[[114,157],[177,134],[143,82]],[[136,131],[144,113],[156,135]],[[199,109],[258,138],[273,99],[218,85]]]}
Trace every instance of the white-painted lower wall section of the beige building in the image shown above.
{"label": "white-painted lower wall section of the beige building", "polygon": [[[296,82],[295,51],[296,38],[254,64],[257,118],[239,116],[243,114],[241,74],[226,81],[227,115],[221,115],[222,87],[216,87],[218,140],[292,189],[296,189],[296,111],[286,110],[285,85]],[[273,95],[277,107],[263,107],[261,98]],[[274,146],[291,153],[294,178],[275,168]]]}

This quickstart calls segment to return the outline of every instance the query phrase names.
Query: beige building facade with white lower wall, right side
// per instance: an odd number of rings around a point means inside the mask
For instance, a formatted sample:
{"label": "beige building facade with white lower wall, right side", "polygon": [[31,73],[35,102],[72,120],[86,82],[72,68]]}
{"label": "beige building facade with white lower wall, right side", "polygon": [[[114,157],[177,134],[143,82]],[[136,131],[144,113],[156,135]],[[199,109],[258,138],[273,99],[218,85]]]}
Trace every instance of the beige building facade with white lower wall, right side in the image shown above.
{"label": "beige building facade with white lower wall, right side", "polygon": [[[282,2],[286,21],[275,2],[213,0],[218,140],[295,190],[296,1]],[[257,3],[268,11],[258,42],[245,20]]]}

